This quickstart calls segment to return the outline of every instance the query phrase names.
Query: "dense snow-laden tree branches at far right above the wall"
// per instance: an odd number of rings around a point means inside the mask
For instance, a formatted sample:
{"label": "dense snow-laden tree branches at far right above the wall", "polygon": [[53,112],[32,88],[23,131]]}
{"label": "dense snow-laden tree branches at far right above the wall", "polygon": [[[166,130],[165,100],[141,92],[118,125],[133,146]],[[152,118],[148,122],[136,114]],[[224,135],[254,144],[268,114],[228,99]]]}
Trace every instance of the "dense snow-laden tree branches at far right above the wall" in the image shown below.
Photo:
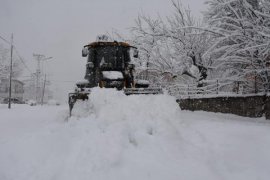
{"label": "dense snow-laden tree branches at far right above the wall", "polygon": [[215,76],[238,81],[246,93],[269,90],[270,3],[265,0],[210,0],[207,23],[215,37],[204,57]]}

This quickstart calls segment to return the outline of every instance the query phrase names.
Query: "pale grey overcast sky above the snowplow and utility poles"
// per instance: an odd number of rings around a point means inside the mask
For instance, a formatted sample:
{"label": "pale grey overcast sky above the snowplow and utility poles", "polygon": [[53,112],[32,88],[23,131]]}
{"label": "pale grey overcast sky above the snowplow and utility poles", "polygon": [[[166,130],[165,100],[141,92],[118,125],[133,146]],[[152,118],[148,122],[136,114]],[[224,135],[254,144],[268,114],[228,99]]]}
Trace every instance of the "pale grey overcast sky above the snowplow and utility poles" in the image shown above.
{"label": "pale grey overcast sky above the snowplow and utility poles", "polygon": [[[182,0],[198,18],[204,2]],[[66,81],[84,77],[83,45],[112,29],[127,34],[138,13],[165,17],[171,11],[170,0],[0,0],[0,36],[9,39],[14,33],[14,44],[33,72],[33,53],[52,56],[44,69],[54,89],[66,97],[75,83]]]}

